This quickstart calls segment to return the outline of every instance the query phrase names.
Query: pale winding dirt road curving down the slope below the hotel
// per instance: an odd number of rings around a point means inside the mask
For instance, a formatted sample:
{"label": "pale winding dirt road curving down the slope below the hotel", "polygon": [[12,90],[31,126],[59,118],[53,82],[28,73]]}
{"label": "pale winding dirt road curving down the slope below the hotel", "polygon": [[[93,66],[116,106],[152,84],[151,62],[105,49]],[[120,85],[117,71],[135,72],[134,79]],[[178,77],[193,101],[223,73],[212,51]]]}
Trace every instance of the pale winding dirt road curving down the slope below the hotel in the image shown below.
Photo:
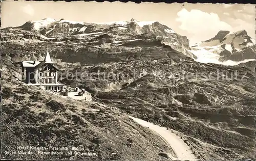
{"label": "pale winding dirt road curving down the slope below the hotel", "polygon": [[153,123],[146,122],[131,116],[130,118],[132,118],[138,124],[148,127],[158,133],[158,135],[160,135],[169,144],[169,146],[172,147],[174,153],[176,154],[176,156],[172,157],[173,160],[199,160],[192,153],[189,146],[184,143],[182,139],[176,136],[175,133],[167,130],[165,127],[160,127]]}

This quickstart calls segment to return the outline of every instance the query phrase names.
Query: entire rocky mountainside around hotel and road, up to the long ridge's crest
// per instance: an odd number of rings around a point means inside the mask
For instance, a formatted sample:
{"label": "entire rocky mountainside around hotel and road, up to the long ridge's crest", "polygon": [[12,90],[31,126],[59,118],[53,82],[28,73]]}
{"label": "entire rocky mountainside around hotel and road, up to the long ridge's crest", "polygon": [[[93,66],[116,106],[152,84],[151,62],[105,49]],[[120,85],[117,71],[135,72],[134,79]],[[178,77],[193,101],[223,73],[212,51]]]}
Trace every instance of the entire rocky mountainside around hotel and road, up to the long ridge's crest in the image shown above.
{"label": "entire rocky mountainside around hotel and road, up to the long ridge's crest", "polygon": [[[159,159],[159,151],[164,153],[167,147],[127,119],[130,115],[179,131],[201,160],[255,158],[251,64],[196,62],[183,52],[190,50],[188,40],[158,22],[87,24],[45,19],[2,29],[1,40],[1,125],[5,125],[1,151],[43,140],[48,146],[83,146],[100,154],[93,159]],[[92,102],[60,99],[17,81],[20,61],[42,60],[47,46],[61,70],[60,81],[91,92]],[[63,133],[63,139],[56,137]],[[127,139],[133,140],[132,147],[126,146]]]}

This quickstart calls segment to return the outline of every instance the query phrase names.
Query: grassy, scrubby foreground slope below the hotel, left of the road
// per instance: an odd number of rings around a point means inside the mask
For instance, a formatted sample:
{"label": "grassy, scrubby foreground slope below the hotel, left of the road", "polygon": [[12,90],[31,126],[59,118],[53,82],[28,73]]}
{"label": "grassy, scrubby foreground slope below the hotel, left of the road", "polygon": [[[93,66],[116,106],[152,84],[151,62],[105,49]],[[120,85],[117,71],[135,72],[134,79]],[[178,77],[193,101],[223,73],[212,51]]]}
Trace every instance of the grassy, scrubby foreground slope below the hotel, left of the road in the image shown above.
{"label": "grassy, scrubby foreground slope below the hotel, left of the road", "polygon": [[[1,159],[156,160],[158,153],[170,150],[118,109],[63,99],[12,79],[2,80]],[[133,141],[131,147],[127,139]],[[4,154],[16,146],[83,147],[81,152],[97,156]]]}

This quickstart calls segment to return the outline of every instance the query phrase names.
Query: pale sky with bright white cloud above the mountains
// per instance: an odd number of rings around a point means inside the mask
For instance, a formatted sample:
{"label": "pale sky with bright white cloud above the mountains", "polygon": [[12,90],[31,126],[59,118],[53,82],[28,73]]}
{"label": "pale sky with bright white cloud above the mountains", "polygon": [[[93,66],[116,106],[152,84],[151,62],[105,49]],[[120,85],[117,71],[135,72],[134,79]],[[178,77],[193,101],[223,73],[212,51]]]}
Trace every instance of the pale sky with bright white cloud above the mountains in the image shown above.
{"label": "pale sky with bright white cloud above the mountains", "polygon": [[255,5],[251,4],[2,1],[1,11],[1,28],[44,18],[88,23],[130,21],[134,18],[138,21],[159,21],[187,36],[190,45],[208,40],[220,30],[246,30],[255,39]]}

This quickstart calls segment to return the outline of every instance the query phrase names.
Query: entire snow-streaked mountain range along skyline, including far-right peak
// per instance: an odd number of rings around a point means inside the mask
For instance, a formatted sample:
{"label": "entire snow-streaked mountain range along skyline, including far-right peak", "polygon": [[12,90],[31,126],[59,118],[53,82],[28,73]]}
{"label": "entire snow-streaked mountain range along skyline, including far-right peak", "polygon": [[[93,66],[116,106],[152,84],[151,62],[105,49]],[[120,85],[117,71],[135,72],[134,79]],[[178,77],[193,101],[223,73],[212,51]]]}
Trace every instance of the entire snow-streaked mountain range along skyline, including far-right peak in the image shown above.
{"label": "entire snow-streaked mountain range along skyline, including far-right peak", "polygon": [[[203,63],[237,65],[255,58],[255,40],[246,31],[230,33],[220,31],[214,38],[189,47],[189,40],[168,26],[158,21],[118,21],[108,23],[86,23],[55,20],[45,18],[38,21],[28,21],[21,26],[1,29],[2,44],[13,43],[25,46],[33,44],[35,48],[46,44],[53,49],[56,59],[67,60],[65,45],[75,52],[81,60],[94,58],[119,60],[151,60],[154,57],[168,58],[168,54],[159,52],[159,47],[172,48],[184,55]],[[65,45],[63,45],[65,44]],[[156,49],[156,48],[157,49]],[[99,49],[100,48],[100,49]],[[136,55],[124,56],[123,52],[137,52]],[[32,51],[33,52],[33,51]],[[60,53],[61,52],[61,53]],[[88,53],[88,54],[84,54]],[[103,60],[100,60],[101,62]],[[73,62],[76,62],[75,60]],[[87,63],[88,63],[87,62]]]}

